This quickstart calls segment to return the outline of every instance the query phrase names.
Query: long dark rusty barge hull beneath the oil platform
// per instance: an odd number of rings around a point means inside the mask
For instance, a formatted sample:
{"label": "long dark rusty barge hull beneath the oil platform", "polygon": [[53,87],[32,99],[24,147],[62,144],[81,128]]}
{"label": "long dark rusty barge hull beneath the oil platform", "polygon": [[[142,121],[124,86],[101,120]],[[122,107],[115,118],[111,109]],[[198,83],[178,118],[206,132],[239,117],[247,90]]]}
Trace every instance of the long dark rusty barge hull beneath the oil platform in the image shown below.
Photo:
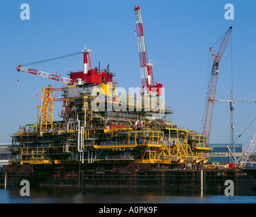
{"label": "long dark rusty barge hull beneath the oil platform", "polygon": [[[108,168],[111,167],[111,168]],[[20,186],[29,180],[31,186],[99,186],[167,189],[225,189],[226,180],[234,189],[256,189],[255,171],[239,169],[185,170],[157,169],[145,164],[125,167],[106,165],[8,165],[0,171],[0,186]]]}

